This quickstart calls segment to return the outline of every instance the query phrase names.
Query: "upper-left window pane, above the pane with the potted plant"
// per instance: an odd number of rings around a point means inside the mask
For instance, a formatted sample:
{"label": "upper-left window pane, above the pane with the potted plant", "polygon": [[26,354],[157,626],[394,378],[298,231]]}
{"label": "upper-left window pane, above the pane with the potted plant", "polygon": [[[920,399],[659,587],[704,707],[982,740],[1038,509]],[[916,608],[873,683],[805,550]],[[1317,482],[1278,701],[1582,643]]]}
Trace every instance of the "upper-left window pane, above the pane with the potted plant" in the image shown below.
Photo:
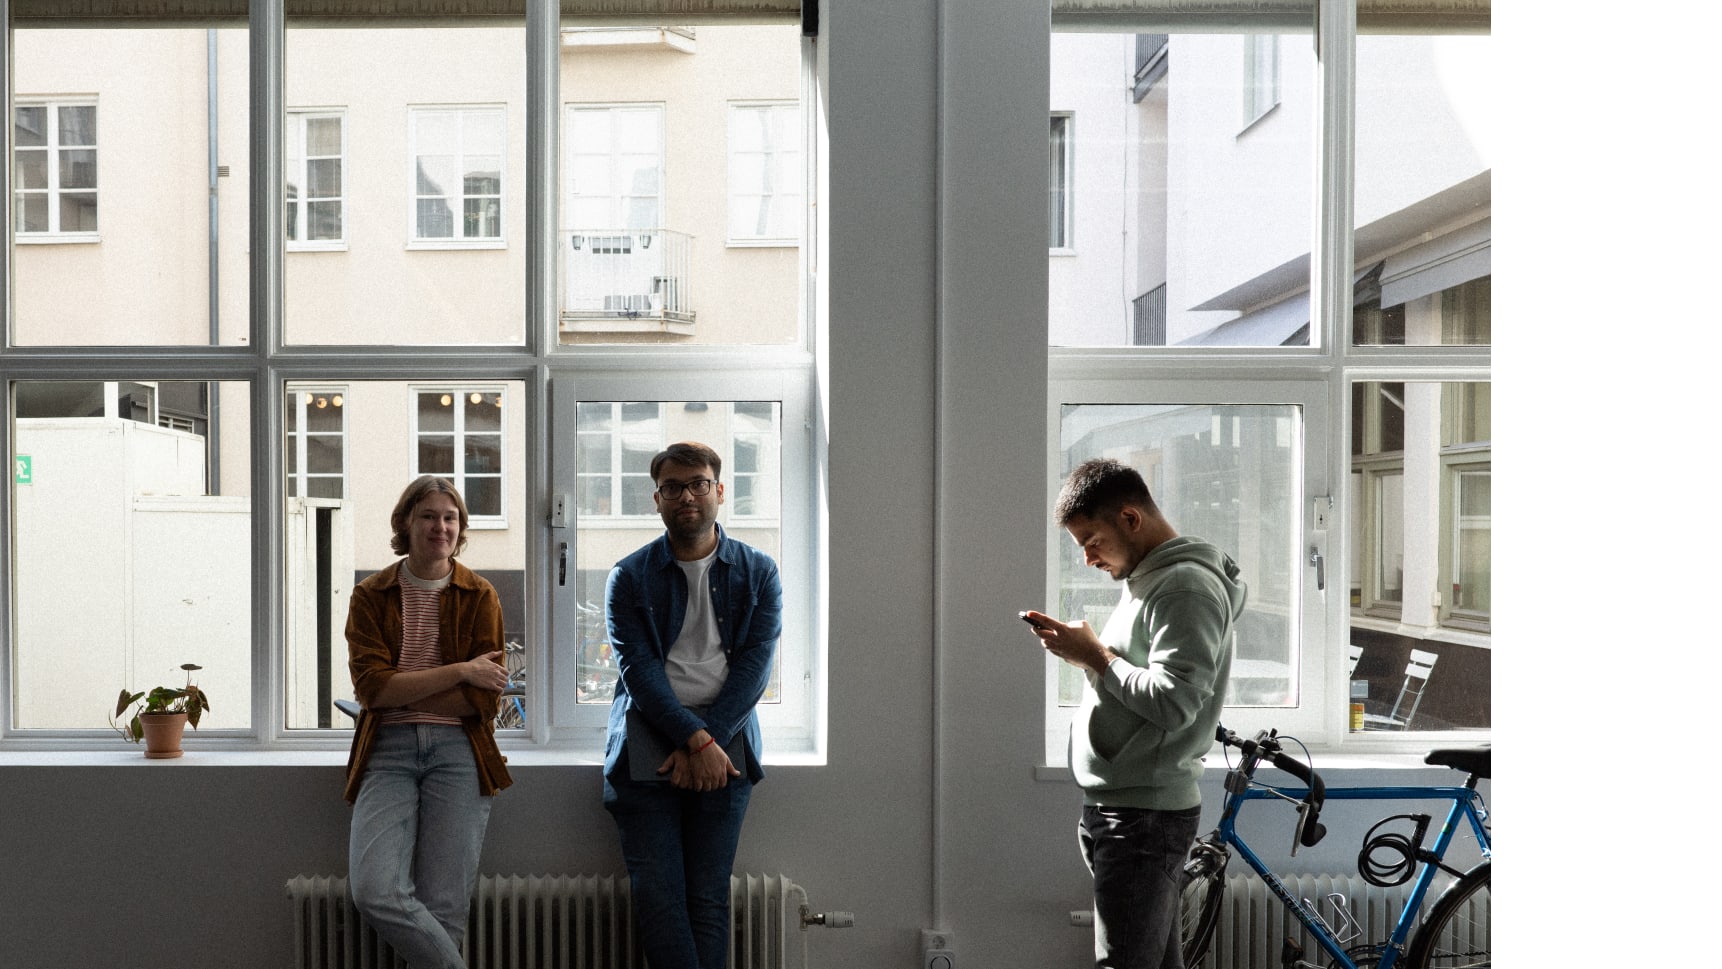
{"label": "upper-left window pane, above the pane with the potted plant", "polygon": [[[15,188],[41,191],[14,196],[17,232],[34,236],[12,253],[15,344],[250,339],[246,34],[12,31],[12,89],[28,91],[14,110]],[[210,170],[212,138],[226,177]]]}

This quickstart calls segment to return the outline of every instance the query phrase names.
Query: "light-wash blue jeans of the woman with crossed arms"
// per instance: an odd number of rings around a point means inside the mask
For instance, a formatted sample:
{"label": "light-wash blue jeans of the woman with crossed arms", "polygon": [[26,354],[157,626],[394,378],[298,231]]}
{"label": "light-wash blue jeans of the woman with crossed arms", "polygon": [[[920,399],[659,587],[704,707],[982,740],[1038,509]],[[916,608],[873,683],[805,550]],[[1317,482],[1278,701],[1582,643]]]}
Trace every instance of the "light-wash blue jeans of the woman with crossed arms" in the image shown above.
{"label": "light-wash blue jeans of the woman with crossed arms", "polygon": [[412,969],[463,969],[460,943],[491,799],[467,731],[384,725],[365,762],[348,838],[353,904]]}

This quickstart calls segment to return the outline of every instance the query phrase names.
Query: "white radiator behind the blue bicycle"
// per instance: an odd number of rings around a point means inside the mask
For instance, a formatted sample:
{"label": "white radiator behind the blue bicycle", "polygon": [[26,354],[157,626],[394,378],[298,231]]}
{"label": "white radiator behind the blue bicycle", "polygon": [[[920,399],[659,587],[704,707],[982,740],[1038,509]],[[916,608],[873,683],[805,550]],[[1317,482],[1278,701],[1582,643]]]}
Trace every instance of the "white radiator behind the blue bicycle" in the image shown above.
{"label": "white radiator behind the blue bicycle", "polygon": [[[1335,929],[1335,936],[1347,940],[1352,933],[1357,938],[1345,941],[1345,947],[1384,941],[1405,907],[1410,895],[1410,883],[1393,888],[1379,888],[1355,874],[1295,874],[1283,878],[1285,886],[1297,898],[1314,904],[1316,912]],[[1434,905],[1443,881],[1429,890],[1424,898],[1424,912]],[[1355,919],[1350,929],[1336,914],[1333,895],[1343,897],[1345,910]],[[1488,931],[1488,902],[1472,900],[1476,909],[1471,921]],[[1415,929],[1412,929],[1415,935]],[[1202,959],[1204,969],[1235,969],[1248,966],[1279,966],[1279,948],[1286,938],[1295,938],[1304,947],[1304,959],[1317,966],[1329,962],[1326,952],[1304,931],[1304,926],[1274,898],[1267,885],[1255,874],[1231,874],[1226,878],[1226,900],[1219,910],[1219,924],[1214,928],[1214,941]],[[1409,940],[1407,940],[1409,941]],[[1486,941],[1484,941],[1486,945]]]}

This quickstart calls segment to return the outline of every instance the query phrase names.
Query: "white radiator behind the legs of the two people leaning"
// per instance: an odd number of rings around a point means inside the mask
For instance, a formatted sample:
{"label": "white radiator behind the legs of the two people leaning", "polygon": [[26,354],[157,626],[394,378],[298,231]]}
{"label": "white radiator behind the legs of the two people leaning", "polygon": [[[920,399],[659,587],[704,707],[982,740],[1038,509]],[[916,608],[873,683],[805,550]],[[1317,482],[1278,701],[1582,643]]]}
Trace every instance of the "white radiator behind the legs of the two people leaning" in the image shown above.
{"label": "white radiator behind the legs of the two people leaning", "polygon": [[[403,969],[353,909],[346,878],[294,876],[288,898],[294,969]],[[730,969],[806,969],[806,905],[782,874],[730,876]],[[646,967],[627,876],[480,876],[461,948],[468,969]]]}

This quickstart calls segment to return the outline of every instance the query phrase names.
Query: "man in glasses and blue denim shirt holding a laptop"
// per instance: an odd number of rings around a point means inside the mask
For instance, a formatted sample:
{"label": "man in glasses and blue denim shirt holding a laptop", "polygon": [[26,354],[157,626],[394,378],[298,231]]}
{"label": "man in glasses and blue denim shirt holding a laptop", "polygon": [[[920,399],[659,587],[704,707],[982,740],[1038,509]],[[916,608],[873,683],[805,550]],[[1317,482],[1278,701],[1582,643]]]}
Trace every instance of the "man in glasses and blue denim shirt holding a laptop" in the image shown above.
{"label": "man in glasses and blue denim shirt holding a laptop", "polygon": [[672,444],[651,461],[663,537],[610,571],[604,611],[620,668],[604,742],[646,959],[723,969],[730,867],[759,769],[759,718],[782,633],[777,563],[723,534],[723,460]]}

